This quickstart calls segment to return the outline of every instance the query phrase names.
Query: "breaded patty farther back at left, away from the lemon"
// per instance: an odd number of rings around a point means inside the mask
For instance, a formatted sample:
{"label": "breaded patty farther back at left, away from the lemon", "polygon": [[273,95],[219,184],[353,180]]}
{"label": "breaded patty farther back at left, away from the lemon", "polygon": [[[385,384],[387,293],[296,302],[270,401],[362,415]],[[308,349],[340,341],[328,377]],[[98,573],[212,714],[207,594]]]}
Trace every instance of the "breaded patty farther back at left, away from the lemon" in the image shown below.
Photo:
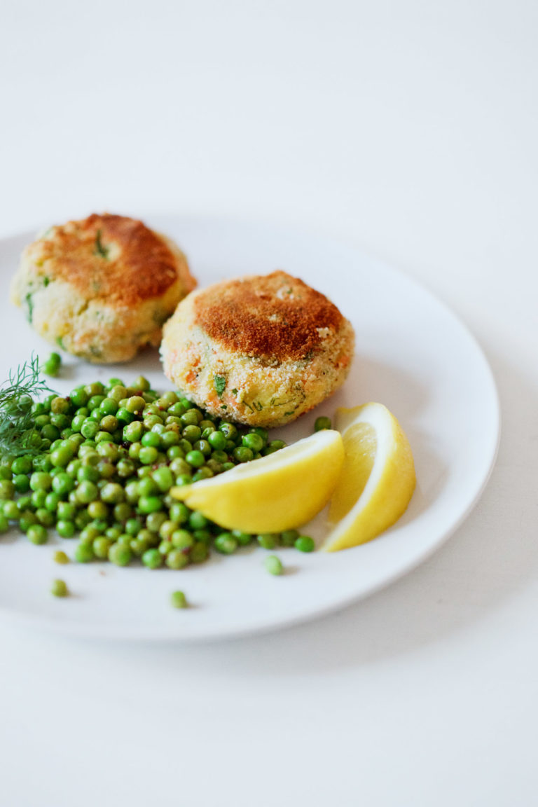
{"label": "breaded patty farther back at left, away from the lemon", "polygon": [[162,324],[196,286],[173,241],[141,221],[93,214],[28,245],[11,284],[35,330],[90,362],[127,362],[158,345]]}

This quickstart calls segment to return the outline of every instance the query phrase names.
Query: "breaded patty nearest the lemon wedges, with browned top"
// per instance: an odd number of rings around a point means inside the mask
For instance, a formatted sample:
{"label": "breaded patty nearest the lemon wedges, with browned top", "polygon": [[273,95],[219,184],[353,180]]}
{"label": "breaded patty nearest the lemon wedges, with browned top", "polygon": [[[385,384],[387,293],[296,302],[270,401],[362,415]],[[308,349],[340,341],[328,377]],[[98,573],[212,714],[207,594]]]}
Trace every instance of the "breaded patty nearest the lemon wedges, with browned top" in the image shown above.
{"label": "breaded patty nearest the lemon wedges, with browned top", "polygon": [[351,324],[319,291],[282,271],[195,291],[165,324],[165,374],[215,415],[290,423],[344,383]]}

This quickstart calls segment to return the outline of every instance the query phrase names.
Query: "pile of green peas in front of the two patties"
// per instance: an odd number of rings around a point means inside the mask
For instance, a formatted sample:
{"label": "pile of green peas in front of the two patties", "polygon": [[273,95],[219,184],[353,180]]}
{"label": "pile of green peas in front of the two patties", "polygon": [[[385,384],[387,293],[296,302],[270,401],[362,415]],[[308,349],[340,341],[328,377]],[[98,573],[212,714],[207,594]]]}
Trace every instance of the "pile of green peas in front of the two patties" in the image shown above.
{"label": "pile of green peas in front of the two patties", "polygon": [[[0,532],[18,525],[34,544],[49,529],[76,538],[73,558],[140,561],[182,569],[211,549],[233,554],[253,541],[268,550],[314,549],[296,530],[251,535],[223,530],[170,495],[172,487],[209,479],[241,462],[282,449],[265,429],[215,418],[143,376],[75,387],[32,404],[40,454],[0,458]],[[56,553],[58,554],[58,553]],[[67,560],[58,554],[59,562]]]}

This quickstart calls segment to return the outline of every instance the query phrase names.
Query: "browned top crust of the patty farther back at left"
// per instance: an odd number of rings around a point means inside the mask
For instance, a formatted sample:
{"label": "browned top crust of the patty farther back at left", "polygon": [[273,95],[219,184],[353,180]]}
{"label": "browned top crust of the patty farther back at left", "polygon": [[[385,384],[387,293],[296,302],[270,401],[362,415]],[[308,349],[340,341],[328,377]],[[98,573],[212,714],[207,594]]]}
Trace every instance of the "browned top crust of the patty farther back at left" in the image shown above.
{"label": "browned top crust of the patty farther back at left", "polygon": [[[99,244],[108,257],[99,252]],[[40,242],[40,258],[82,295],[124,306],[160,297],[181,277],[190,278],[186,261],[179,267],[177,257],[145,224],[109,213],[55,227],[52,237]]]}

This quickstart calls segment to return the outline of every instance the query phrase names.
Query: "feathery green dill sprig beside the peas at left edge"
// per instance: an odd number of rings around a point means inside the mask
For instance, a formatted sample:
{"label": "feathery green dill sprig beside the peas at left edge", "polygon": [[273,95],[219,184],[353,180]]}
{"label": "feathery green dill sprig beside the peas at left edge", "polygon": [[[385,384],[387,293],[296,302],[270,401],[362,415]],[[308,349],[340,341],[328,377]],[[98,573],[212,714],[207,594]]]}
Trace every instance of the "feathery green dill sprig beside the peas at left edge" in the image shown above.
{"label": "feathery green dill sprig beside the peas at left edge", "polygon": [[39,357],[32,353],[29,361],[10,370],[0,387],[0,454],[40,453],[42,440],[35,429],[32,404],[44,392],[53,390],[40,377]]}

